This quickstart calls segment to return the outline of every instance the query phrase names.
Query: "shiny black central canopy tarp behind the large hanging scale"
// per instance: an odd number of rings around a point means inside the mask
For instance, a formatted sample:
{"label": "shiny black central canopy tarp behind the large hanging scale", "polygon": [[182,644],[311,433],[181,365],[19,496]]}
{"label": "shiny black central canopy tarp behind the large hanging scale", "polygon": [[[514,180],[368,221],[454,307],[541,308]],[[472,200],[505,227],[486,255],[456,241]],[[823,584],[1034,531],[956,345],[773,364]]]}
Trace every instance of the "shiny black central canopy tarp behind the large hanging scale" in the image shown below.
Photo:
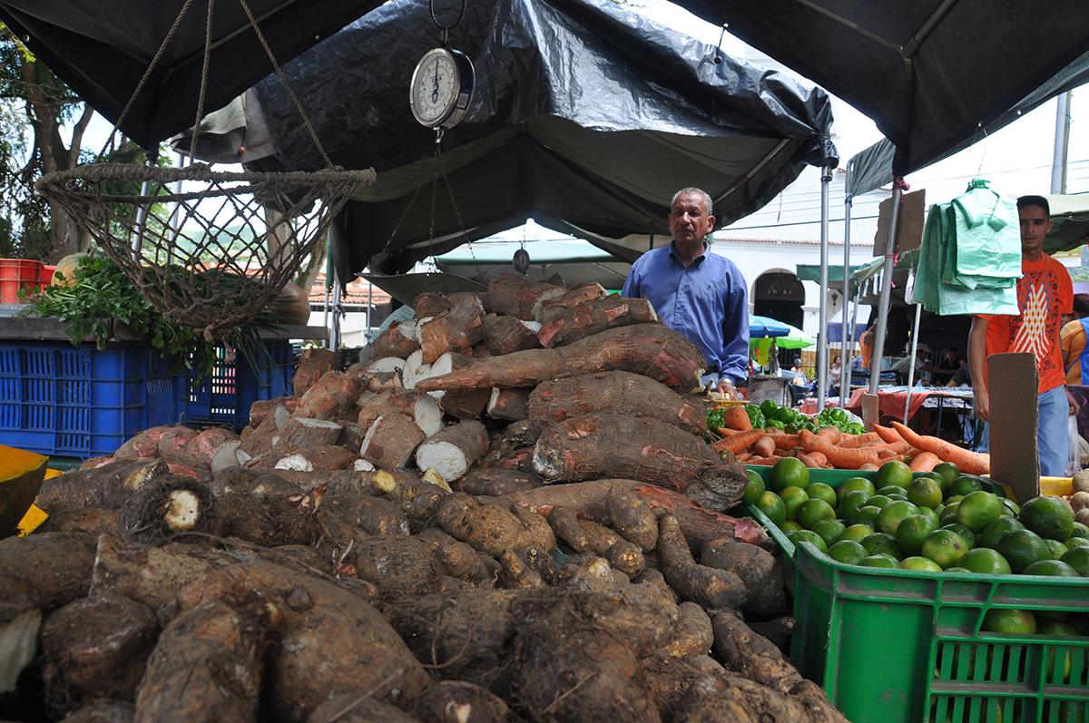
{"label": "shiny black central canopy tarp behind the large hanging scale", "polygon": [[[608,0],[472,2],[450,45],[473,61],[475,93],[443,137],[432,219],[435,133],[413,120],[407,88],[438,37],[427,3],[401,0],[284,66],[332,161],[378,171],[339,221],[339,270],[404,271],[527,218],[609,237],[663,234],[673,193],[688,185],[729,222],[805,163],[835,162],[820,90]],[[320,167],[279,78],[256,89],[278,149],[258,163]]]}

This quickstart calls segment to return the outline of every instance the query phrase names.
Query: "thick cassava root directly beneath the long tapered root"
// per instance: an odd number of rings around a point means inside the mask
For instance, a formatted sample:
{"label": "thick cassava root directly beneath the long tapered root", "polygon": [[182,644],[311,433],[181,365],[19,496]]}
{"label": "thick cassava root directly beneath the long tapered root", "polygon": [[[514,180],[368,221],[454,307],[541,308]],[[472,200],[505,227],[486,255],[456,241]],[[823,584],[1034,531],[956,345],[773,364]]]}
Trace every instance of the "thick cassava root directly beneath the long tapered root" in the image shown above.
{"label": "thick cassava root directly beneath the long tapered root", "polygon": [[598,412],[658,419],[696,436],[707,432],[705,402],[631,371],[550,380],[529,394],[528,418],[540,427]]}

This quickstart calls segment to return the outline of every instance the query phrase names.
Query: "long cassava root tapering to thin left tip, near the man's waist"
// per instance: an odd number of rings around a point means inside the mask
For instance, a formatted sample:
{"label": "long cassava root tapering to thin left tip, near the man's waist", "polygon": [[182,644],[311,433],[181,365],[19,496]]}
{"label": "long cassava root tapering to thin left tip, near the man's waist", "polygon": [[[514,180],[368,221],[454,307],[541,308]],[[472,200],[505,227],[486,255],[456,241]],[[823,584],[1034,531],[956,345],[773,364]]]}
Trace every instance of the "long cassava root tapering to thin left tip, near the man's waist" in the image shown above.
{"label": "long cassava root tapering to thin left tip, near the man's waist", "polygon": [[695,344],[661,323],[610,329],[560,348],[529,350],[482,359],[465,369],[420,380],[424,391],[534,387],[559,377],[622,369],[688,392],[706,363]]}

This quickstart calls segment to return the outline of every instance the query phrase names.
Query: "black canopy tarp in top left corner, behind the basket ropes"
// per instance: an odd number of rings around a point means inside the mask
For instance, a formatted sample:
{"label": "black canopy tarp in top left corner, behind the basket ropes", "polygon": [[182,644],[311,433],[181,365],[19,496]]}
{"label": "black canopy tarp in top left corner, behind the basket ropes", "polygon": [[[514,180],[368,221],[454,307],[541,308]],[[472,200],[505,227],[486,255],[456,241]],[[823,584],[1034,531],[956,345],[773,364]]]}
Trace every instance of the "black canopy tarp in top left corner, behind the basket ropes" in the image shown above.
{"label": "black canopy tarp in top left corner, behind the basket ropes", "polygon": [[[279,63],[382,0],[246,0]],[[46,65],[115,122],[185,0],[0,0],[5,23]],[[272,64],[238,0],[213,5],[205,111],[221,108]],[[121,131],[145,148],[191,125],[204,64],[208,0],[186,11]]]}

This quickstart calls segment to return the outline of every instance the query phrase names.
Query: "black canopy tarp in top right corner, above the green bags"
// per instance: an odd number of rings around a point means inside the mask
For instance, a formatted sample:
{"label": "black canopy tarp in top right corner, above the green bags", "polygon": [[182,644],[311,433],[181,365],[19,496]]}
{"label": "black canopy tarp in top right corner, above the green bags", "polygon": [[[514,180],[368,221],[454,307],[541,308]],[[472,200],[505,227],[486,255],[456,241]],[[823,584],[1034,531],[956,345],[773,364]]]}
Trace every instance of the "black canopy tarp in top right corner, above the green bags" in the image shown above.
{"label": "black canopy tarp in top right corner, above the green bags", "polygon": [[[676,0],[877,123],[905,175],[1077,85],[1084,0]],[[1085,82],[1084,79],[1081,82]],[[1004,123],[1003,123],[1004,124]],[[1001,127],[999,125],[998,127]]]}

